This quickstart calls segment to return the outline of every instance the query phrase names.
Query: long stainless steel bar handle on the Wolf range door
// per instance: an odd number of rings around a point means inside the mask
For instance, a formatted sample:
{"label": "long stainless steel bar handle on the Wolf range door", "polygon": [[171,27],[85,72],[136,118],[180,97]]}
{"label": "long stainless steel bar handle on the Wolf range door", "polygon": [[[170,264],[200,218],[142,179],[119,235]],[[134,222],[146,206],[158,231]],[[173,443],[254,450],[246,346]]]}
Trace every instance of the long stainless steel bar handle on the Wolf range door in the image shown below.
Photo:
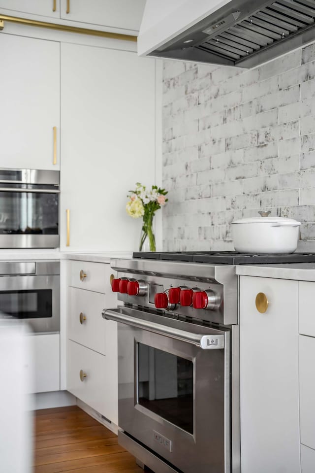
{"label": "long stainless steel bar handle on the Wolf range door", "polygon": [[[132,313],[132,309],[124,307],[124,310]],[[131,325],[137,329],[153,332],[154,334],[164,335],[165,337],[175,338],[185,341],[192,345],[199,346],[203,350],[220,350],[224,348],[224,335],[198,335],[186,332],[185,330],[174,329],[166,325],[157,324],[148,320],[141,320],[132,315],[122,314],[120,309],[104,309],[102,317],[107,320],[115,320],[122,324]]]}

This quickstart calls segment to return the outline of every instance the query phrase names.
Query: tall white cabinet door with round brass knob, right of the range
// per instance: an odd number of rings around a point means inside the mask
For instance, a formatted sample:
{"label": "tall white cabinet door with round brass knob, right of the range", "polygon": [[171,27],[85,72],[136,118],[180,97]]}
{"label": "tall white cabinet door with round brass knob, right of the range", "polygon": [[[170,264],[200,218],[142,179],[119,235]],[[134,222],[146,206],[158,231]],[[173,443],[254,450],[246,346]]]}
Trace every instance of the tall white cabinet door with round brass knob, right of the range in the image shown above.
{"label": "tall white cabinet door with round brass knob, right of the range", "polygon": [[240,385],[242,473],[298,473],[297,281],[240,277]]}

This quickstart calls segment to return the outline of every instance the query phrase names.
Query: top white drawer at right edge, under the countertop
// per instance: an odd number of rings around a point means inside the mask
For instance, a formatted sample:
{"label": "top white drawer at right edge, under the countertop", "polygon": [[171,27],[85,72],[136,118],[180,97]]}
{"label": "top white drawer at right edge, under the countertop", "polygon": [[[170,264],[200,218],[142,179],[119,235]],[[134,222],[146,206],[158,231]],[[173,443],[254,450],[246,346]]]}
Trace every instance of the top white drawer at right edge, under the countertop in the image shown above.
{"label": "top white drawer at right edge, under the countertop", "polygon": [[315,282],[299,281],[299,332],[315,337]]}

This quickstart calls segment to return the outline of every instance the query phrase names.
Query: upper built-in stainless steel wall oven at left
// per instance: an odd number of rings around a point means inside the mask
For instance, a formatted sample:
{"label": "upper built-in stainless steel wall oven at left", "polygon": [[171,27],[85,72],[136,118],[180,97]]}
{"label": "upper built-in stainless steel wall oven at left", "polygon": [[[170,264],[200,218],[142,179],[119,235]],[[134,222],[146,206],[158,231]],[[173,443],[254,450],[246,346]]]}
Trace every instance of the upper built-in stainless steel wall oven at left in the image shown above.
{"label": "upper built-in stainless steel wall oven at left", "polygon": [[59,171],[0,169],[0,248],[59,246]]}

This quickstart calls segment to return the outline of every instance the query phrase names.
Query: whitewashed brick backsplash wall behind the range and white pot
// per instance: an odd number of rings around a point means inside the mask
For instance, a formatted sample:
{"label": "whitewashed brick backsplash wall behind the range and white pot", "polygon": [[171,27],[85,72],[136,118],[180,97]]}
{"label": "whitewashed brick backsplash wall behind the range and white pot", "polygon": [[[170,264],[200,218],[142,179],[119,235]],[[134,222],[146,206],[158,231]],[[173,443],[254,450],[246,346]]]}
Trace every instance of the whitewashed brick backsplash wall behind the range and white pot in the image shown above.
{"label": "whitewashed brick backsplash wall behind the range and white pot", "polygon": [[164,61],[164,250],[229,250],[269,209],[315,251],[315,44],[247,70]]}

